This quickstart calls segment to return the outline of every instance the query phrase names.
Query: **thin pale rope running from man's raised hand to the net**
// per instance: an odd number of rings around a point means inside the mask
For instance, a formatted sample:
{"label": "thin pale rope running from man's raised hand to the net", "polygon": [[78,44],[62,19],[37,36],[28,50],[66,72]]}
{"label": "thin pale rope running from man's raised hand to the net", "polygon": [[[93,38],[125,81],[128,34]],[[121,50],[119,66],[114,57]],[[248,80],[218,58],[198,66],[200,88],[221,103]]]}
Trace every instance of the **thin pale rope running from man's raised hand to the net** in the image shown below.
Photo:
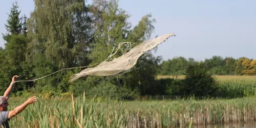
{"label": "thin pale rope running from man's raised hand to the net", "polygon": [[[127,47],[127,48],[124,50],[124,53],[125,53],[128,49],[130,49],[131,46],[132,46],[132,45],[131,45],[131,42],[120,42],[120,43],[118,44],[118,47],[117,47],[116,52],[113,53],[113,51],[114,51],[114,49],[115,49],[115,47],[114,47],[113,50],[112,50],[112,52],[111,52],[111,54],[108,56],[108,58],[107,58],[106,60],[102,61],[102,62],[105,62],[105,61],[109,60],[109,58],[111,58],[112,56],[114,56],[114,55],[117,53],[117,51],[121,48],[121,46],[122,46],[123,44]],[[127,45],[126,45],[126,44],[127,44]],[[113,53],[113,54],[112,54],[112,53]],[[111,58],[111,59],[112,59],[112,58]],[[58,71],[56,71],[56,72],[53,72],[53,73],[51,73],[51,74],[49,74],[49,75],[46,75],[46,76],[43,76],[43,77],[40,77],[40,78],[37,78],[37,79],[33,79],[33,80],[17,80],[17,81],[14,81],[14,83],[15,83],[15,82],[31,82],[31,81],[36,81],[36,80],[39,80],[39,79],[48,77],[48,76],[50,76],[50,75],[52,75],[52,74],[55,74],[55,73],[60,72],[60,71],[63,71],[63,70],[70,70],[70,69],[77,69],[77,68],[92,67],[92,66],[98,65],[98,64],[100,64],[100,63],[102,63],[102,62],[95,63],[94,65],[91,65],[91,66],[82,66],[82,67],[73,67],[73,68],[61,69],[61,70],[58,70]],[[73,74],[73,75],[74,75],[74,74]],[[72,76],[73,76],[73,75],[72,75]],[[71,76],[71,77],[72,77],[72,76]]]}

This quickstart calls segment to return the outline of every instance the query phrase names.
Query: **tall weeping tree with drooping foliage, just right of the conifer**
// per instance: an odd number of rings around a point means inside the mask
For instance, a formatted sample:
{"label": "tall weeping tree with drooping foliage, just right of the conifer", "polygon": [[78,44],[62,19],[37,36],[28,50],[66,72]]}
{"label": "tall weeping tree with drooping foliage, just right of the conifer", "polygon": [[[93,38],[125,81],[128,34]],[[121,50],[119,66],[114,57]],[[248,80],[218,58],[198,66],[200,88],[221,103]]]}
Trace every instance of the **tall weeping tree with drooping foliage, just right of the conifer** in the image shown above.
{"label": "tall weeping tree with drooping foliage, just right of the conifer", "polygon": [[[31,41],[26,53],[33,77],[64,68],[87,66],[90,63],[91,21],[84,1],[35,0],[34,3],[35,9],[27,20],[27,35]],[[68,82],[66,74],[70,72],[62,71],[38,80],[37,86],[67,92],[72,83]]]}

